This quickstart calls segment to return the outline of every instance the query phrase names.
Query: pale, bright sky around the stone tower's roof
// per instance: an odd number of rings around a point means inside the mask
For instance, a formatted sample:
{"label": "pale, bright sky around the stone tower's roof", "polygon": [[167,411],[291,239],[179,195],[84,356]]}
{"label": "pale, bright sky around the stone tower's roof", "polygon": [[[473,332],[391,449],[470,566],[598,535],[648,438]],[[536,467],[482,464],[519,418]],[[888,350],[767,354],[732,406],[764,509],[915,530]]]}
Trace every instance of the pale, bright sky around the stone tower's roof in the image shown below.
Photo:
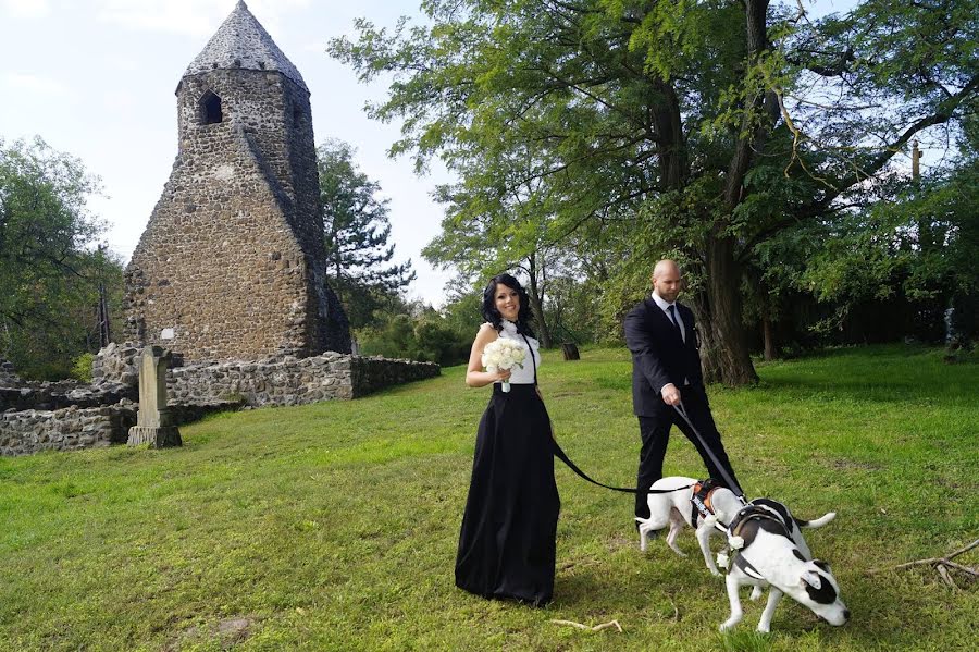
{"label": "pale, bright sky around the stone tower's roof", "polygon": [[[91,210],[109,224],[110,247],[128,260],[170,176],[176,156],[177,82],[237,0],[0,0],[0,138],[41,136],[101,177],[106,197]],[[818,10],[854,0],[820,0]],[[407,158],[389,159],[399,125],[371,121],[368,100],[385,86],[358,84],[330,59],[326,41],[351,34],[354,20],[393,26],[419,16],[419,0],[250,0],[249,10],[285,52],[311,93],[317,143],[342,138],[391,199],[396,258],[411,258],[409,295],[443,303],[447,272],[429,267],[421,248],[439,230],[431,199],[439,169],[425,177]],[[807,2],[808,4],[808,2]]]}

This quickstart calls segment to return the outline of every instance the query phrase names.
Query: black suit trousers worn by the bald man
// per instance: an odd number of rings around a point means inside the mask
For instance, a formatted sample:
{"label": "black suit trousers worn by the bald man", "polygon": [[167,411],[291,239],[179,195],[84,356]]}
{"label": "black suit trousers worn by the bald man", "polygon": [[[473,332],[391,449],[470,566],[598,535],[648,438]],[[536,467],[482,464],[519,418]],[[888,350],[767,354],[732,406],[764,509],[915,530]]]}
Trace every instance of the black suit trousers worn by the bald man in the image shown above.
{"label": "black suit trousers worn by the bald man", "polygon": [[[714,425],[714,417],[710,415],[710,404],[707,402],[707,393],[704,391],[704,387],[699,385],[684,386],[680,390],[680,397],[683,401],[683,407],[686,409],[686,416],[693,421],[693,425],[703,435],[704,441],[717,456],[718,462],[728,471],[731,479],[738,482],[734,469],[731,468],[731,463],[728,459],[728,453],[720,441],[720,433]],[[709,476],[720,483],[727,484],[723,476],[704,450],[701,441],[673,407],[660,401],[653,416],[641,416],[639,421],[643,447],[640,450],[640,466],[635,485],[640,492],[649,489],[654,482],[662,478],[662,459],[666,456],[667,444],[670,441],[670,428],[674,423],[686,435],[686,439],[696,446]],[[649,517],[649,505],[646,501],[645,493],[635,495],[635,515],[640,518]]]}

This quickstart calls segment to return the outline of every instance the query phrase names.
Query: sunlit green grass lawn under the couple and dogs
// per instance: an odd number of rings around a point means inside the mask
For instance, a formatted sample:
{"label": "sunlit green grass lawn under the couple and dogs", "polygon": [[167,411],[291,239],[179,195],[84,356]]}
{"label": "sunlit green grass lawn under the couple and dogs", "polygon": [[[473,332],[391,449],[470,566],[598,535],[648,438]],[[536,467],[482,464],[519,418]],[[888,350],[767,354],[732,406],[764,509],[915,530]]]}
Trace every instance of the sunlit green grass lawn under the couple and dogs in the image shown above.
{"label": "sunlit green grass lawn under the couple and dogs", "polygon": [[[970,650],[977,583],[928,568],[869,575],[979,537],[979,366],[888,346],[759,365],[759,386],[712,389],[751,496],[802,517],[853,620],[783,601],[773,633],[728,616],[691,532],[680,558],[639,551],[631,499],[557,468],[555,601],[455,589],[453,564],[487,390],[463,369],[348,403],[212,417],[178,450],[0,458],[0,650]],[[558,440],[598,479],[633,481],[639,433],[624,350],[547,354]],[[674,431],[667,473],[699,476]],[[979,551],[958,558],[976,564]],[[247,618],[247,631],[219,624]],[[617,619],[624,631],[582,631]],[[972,641],[972,643],[969,643]]]}

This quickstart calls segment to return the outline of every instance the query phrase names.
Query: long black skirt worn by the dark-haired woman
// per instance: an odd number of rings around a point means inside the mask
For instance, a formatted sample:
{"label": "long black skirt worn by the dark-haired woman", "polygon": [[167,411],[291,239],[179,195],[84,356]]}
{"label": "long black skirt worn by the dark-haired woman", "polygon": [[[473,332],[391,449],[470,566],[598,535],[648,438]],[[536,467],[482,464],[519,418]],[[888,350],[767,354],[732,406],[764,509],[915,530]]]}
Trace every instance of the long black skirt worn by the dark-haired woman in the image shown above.
{"label": "long black skirt worn by the dark-haired woman", "polygon": [[550,419],[534,385],[511,384],[480,420],[456,556],[456,586],[485,598],[544,605],[554,593],[561,503]]}

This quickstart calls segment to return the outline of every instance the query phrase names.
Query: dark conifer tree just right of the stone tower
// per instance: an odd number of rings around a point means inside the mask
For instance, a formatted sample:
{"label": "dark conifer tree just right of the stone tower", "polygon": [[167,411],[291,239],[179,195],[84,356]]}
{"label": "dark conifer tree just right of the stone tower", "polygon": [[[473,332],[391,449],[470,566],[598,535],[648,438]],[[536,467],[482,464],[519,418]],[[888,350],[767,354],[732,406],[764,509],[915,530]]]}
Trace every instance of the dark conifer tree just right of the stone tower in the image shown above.
{"label": "dark conifer tree just right of the stone tower", "polygon": [[414,280],[411,261],[392,263],[391,222],[381,186],[354,162],[347,143],[331,139],[317,149],[327,275],[352,328],[375,310],[397,303],[397,293]]}

